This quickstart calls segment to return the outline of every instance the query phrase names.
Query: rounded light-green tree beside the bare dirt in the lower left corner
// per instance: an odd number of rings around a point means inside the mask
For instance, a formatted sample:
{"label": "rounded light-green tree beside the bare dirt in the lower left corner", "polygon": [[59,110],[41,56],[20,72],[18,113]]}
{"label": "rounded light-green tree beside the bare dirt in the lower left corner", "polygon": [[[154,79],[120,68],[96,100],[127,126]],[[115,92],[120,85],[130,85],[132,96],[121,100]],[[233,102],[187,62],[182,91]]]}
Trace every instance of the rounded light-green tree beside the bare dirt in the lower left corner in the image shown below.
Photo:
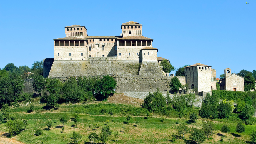
{"label": "rounded light-green tree beside the bare dirt in the lower left corner", "polygon": [[10,136],[17,135],[21,132],[24,127],[24,123],[20,120],[9,120],[5,124],[6,130]]}

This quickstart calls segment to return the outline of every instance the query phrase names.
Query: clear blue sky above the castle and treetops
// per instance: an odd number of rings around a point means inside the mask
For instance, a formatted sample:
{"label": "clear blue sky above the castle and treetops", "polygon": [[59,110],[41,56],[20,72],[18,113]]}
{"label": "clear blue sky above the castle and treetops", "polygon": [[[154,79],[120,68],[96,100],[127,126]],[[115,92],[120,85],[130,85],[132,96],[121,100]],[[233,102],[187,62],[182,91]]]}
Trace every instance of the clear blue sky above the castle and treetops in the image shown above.
{"label": "clear blue sky above the castle and treetops", "polygon": [[65,37],[65,26],[111,36],[128,21],[142,24],[143,36],[154,39],[158,56],[175,68],[202,63],[216,69],[217,78],[225,68],[256,69],[255,0],[1,1],[0,68],[53,58],[53,39]]}

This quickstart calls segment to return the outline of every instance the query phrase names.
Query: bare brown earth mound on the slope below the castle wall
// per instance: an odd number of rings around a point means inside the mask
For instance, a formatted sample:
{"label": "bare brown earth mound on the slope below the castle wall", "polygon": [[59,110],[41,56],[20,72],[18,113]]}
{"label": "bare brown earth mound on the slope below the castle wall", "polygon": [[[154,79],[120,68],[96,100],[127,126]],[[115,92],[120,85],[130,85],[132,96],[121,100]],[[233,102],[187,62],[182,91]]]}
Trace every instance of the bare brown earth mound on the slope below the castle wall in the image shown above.
{"label": "bare brown earth mound on the slope below the castle wall", "polygon": [[138,98],[131,98],[124,93],[115,93],[113,96],[109,96],[108,102],[109,103],[121,103],[121,104],[130,104],[141,106],[144,100]]}

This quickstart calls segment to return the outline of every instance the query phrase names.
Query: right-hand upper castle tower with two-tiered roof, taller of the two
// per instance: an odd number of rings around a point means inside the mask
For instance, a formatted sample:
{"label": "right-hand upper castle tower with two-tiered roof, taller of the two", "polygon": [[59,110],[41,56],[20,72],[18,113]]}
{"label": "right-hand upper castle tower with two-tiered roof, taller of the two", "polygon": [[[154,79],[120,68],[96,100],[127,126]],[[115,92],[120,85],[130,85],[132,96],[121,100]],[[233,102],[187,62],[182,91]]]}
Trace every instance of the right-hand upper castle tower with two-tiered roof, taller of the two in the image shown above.
{"label": "right-hand upper castle tower with two-tiered roof, taller of the two", "polygon": [[134,21],[122,23],[122,36],[142,36],[142,24]]}

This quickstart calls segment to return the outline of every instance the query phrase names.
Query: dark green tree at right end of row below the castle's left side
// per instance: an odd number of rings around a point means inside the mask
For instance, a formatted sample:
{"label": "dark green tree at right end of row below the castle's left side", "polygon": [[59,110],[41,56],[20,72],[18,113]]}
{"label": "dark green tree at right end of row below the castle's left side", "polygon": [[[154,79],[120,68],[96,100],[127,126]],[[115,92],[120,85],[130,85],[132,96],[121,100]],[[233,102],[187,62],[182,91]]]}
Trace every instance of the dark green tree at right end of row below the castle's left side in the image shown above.
{"label": "dark green tree at right end of row below the castle's left side", "polygon": [[111,77],[111,76],[109,76],[109,75],[103,76],[103,78],[101,79],[101,81],[102,81],[102,86],[101,86],[101,91],[100,91],[100,92],[101,92],[106,98],[108,98],[108,96],[109,96],[110,94],[114,94],[114,93],[115,93],[114,89],[115,89],[116,86],[117,86],[117,81],[116,81],[113,77]]}

